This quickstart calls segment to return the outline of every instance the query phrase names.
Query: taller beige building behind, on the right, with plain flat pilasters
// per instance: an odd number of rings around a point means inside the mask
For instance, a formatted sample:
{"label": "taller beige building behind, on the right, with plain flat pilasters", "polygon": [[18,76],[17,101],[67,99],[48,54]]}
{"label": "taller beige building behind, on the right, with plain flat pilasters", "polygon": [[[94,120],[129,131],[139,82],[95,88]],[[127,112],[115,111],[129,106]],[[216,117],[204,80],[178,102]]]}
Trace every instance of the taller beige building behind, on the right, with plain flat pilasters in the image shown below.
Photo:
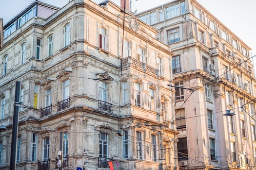
{"label": "taller beige building behind, on the right, with plain flat pilasters", "polygon": [[156,28],[158,40],[174,53],[180,170],[255,170],[250,47],[196,0],[173,0],[136,16]]}

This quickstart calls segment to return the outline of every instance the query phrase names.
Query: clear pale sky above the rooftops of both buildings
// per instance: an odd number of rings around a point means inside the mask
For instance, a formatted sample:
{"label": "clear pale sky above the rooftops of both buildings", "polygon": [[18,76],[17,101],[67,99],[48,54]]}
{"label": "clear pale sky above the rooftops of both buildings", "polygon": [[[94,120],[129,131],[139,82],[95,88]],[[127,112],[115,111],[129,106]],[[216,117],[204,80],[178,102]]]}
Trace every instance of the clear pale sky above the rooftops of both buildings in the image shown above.
{"label": "clear pale sky above the rooftops of both buildings", "polygon": [[[0,0],[0,18],[4,24],[15,17],[21,10],[34,0]],[[69,0],[40,0],[58,7],[64,6]],[[103,0],[93,0],[99,3]],[[120,5],[120,0],[112,0]],[[138,12],[153,8],[172,0],[132,0],[132,11]],[[204,8],[226,25],[242,41],[249,45],[256,54],[256,0],[197,0]],[[256,63],[256,57],[254,58]],[[256,66],[256,64],[255,64]]]}

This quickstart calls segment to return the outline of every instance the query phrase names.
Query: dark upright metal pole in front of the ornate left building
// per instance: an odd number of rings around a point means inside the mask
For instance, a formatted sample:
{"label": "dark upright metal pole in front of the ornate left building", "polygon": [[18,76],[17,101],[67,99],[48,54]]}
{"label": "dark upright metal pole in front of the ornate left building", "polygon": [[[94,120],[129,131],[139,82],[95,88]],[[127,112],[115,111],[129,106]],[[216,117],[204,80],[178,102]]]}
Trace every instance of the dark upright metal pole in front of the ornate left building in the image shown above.
{"label": "dark upright metal pole in front of the ornate left building", "polygon": [[15,99],[14,99],[14,111],[13,111],[10,170],[16,169],[16,148],[17,148],[18,121],[19,121],[19,104],[20,104],[20,82],[17,81],[15,86]]}

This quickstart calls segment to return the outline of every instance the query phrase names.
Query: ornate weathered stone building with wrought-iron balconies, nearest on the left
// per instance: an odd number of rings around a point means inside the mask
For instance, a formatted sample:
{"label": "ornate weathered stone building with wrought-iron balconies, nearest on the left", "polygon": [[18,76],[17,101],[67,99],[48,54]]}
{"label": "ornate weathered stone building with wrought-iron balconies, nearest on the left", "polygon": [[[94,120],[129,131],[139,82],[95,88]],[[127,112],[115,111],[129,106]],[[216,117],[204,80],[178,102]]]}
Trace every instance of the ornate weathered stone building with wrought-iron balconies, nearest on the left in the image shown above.
{"label": "ornate weathered stone building with wrought-iron balconies, nearest on the left", "polygon": [[[58,8],[36,0],[0,30],[0,170],[9,170],[10,165],[16,81],[21,82],[16,170],[178,169],[172,53],[155,38],[156,29],[128,11],[124,15],[111,1],[72,0]],[[216,52],[215,62],[219,58]],[[223,61],[228,63],[228,57]],[[191,70],[191,80],[184,86],[202,85],[201,76],[214,78],[206,71]],[[193,78],[198,73],[200,78]],[[242,75],[250,80],[248,73]],[[183,80],[181,76],[176,74],[176,82]],[[216,102],[224,101],[224,83],[251,99],[249,92],[222,78],[214,87],[220,94]],[[223,86],[220,91],[218,84]],[[193,94],[202,96],[197,108],[206,104],[203,91]],[[250,120],[243,112],[236,117],[241,115]],[[207,116],[200,118],[207,121]],[[220,118],[227,120],[221,114]],[[206,122],[203,127],[203,133],[193,131],[209,143]],[[217,137],[214,129],[209,132]],[[179,136],[186,137],[186,130]],[[198,135],[198,147],[203,147],[201,138]]]}

